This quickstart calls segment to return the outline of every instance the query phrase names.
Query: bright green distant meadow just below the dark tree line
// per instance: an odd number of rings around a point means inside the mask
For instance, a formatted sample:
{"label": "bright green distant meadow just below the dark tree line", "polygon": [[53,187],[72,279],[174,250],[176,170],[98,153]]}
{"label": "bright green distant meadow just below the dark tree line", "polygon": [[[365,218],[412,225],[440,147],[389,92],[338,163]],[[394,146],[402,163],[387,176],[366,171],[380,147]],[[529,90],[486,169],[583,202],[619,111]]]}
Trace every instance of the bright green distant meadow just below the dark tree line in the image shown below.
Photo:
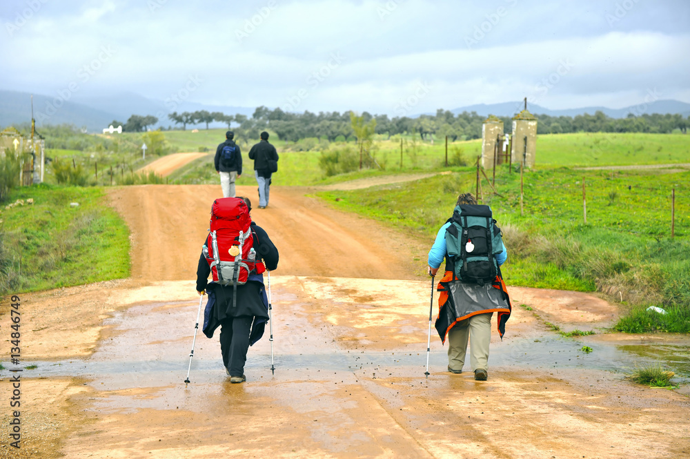
{"label": "bright green distant meadow just below the dark tree line", "polygon": [[[215,131],[215,135],[213,134]],[[196,139],[213,139],[208,145],[211,152],[224,137],[224,130],[166,131],[170,144],[185,150],[187,146],[198,144]],[[199,136],[199,137],[195,137]],[[273,141],[273,139],[271,139]],[[178,143],[179,142],[179,143]],[[245,168],[252,162],[248,159],[248,146],[242,148]],[[406,136],[403,139],[402,167],[400,137],[386,139],[377,136],[373,156],[377,164],[370,170],[354,171],[346,175],[325,177],[319,168],[321,150],[306,152],[286,151],[286,142],[275,141],[280,155],[279,173],[274,178],[276,185],[317,185],[342,182],[344,180],[367,177],[370,175],[409,173],[418,171],[440,171],[445,167],[445,144],[437,141],[431,144],[420,141],[417,137]],[[354,142],[332,142],[329,150],[349,145],[355,148]],[[482,141],[456,141],[449,144],[449,164],[457,168],[461,164],[473,164],[481,154]],[[682,134],[608,134],[577,133],[560,135],[540,135],[537,139],[537,168],[558,166],[611,166],[626,164],[675,164],[690,162],[690,136]],[[176,175],[181,183],[215,183],[215,170],[201,167],[200,164],[188,166]],[[195,169],[195,170],[193,170]],[[250,177],[247,177],[249,179]]]}

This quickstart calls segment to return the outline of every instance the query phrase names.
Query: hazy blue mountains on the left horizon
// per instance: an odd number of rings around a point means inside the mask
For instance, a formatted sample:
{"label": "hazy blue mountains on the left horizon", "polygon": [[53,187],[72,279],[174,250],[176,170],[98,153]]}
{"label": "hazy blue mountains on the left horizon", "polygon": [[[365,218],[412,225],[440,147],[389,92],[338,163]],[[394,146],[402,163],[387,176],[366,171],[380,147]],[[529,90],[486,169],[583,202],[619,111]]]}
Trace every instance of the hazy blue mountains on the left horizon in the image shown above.
{"label": "hazy blue mountains on the left horizon", "polygon": [[[153,115],[159,118],[157,126],[174,126],[168,119],[173,111],[195,112],[208,110],[222,112],[226,115],[252,115],[254,108],[233,106],[212,106],[197,102],[183,101],[173,105],[172,101],[147,99],[133,92],[124,92],[112,96],[75,95],[63,101],[59,97],[34,94],[34,118],[37,126],[43,124],[74,124],[86,127],[89,132],[101,132],[114,120],[126,122],[131,115]],[[0,90],[0,126],[19,124],[31,121],[31,95],[28,92]],[[157,127],[155,126],[155,127]],[[211,123],[210,127],[226,126],[222,123]]]}

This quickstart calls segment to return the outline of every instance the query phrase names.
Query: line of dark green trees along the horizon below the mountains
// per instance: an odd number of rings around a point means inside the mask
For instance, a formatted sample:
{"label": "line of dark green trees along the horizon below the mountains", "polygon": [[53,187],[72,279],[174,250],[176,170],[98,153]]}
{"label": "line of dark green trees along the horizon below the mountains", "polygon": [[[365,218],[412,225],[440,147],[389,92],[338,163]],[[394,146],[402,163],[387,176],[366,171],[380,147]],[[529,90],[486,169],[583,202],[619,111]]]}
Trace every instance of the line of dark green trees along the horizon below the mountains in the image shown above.
{"label": "line of dark green trees along the horizon below the mountains", "polygon": [[[393,135],[419,135],[422,140],[444,139],[446,135],[452,141],[457,139],[478,139],[482,137],[482,124],[486,117],[476,112],[453,113],[450,110],[437,110],[435,115],[420,115],[419,117],[393,117],[388,115],[371,115],[362,113],[365,123],[376,121],[375,134],[390,138]],[[538,119],[538,134],[561,134],[577,132],[606,132],[606,133],[671,133],[680,130],[687,133],[690,117],[682,115],[629,114],[625,118],[611,118],[601,111],[594,115],[584,114],[575,117],[549,115],[535,115]],[[176,126],[186,129],[187,125],[221,122],[228,129],[238,130],[238,135],[248,138],[259,136],[262,130],[273,131],[281,140],[298,141],[308,137],[316,137],[335,141],[337,139],[353,139],[357,137],[352,127],[350,112],[319,112],[290,113],[280,108],[271,110],[260,106],[253,115],[226,115],[221,112],[198,110],[195,112],[173,112],[168,115]],[[510,133],[512,129],[511,117],[498,117],[503,121],[504,131]],[[113,126],[116,126],[113,121]],[[142,117],[132,115],[123,129],[130,132],[145,131],[148,126],[158,122],[150,115]]]}

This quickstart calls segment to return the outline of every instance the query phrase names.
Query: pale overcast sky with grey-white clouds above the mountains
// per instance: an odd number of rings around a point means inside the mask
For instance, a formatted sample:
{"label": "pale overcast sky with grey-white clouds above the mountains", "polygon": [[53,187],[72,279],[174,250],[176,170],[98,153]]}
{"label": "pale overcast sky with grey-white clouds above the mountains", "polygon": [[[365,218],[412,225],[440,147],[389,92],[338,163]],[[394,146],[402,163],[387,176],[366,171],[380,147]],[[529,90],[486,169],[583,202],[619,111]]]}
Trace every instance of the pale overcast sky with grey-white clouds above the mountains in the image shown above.
{"label": "pale overcast sky with grey-white clouds above the mountains", "polygon": [[389,115],[690,103],[687,0],[3,0],[0,19],[0,89],[73,99]]}

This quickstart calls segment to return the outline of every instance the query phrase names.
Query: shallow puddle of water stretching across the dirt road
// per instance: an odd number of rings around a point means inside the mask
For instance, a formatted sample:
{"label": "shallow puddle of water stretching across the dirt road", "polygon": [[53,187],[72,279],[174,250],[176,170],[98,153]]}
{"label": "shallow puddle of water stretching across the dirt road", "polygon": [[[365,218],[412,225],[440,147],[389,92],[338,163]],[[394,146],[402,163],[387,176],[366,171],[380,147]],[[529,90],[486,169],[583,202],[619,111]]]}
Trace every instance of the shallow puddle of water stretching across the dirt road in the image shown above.
{"label": "shallow puddle of water stretching across the dirt road", "polygon": [[[101,390],[181,384],[186,378],[192,342],[190,317],[193,320],[197,306],[198,303],[180,306],[179,302],[134,306],[106,321],[106,325],[116,333],[104,339],[90,358],[62,362],[26,361],[26,366],[37,367],[26,369],[23,376],[81,376],[92,380],[91,384]],[[276,334],[274,349],[275,378],[279,380],[284,380],[288,374],[290,378],[299,380],[302,375],[302,379],[308,380],[329,378],[327,373],[338,372],[362,378],[409,378],[417,374],[422,378],[424,375],[426,343],[410,344],[392,351],[348,351],[336,349],[331,340],[324,341],[324,333],[306,333],[313,327],[306,322],[304,314],[293,314],[289,318],[286,315],[284,321],[280,324],[284,335]],[[635,365],[661,363],[676,373],[672,380],[674,384],[690,382],[690,338],[681,336],[669,343],[665,337],[638,339],[630,335],[592,335],[575,339],[546,333],[536,340],[505,338],[491,344],[491,367],[580,368],[624,374]],[[252,380],[273,378],[269,370],[270,347],[266,338],[264,336],[264,340],[249,350],[246,373]],[[591,353],[582,351],[583,346],[591,347]],[[441,348],[440,343],[435,342],[432,349],[430,369],[444,371],[447,348]],[[466,370],[469,370],[468,364]],[[10,367],[6,362],[3,365]],[[0,375],[8,374],[7,370],[0,371]],[[208,340],[199,331],[190,380],[213,384],[226,379],[218,335]]]}

